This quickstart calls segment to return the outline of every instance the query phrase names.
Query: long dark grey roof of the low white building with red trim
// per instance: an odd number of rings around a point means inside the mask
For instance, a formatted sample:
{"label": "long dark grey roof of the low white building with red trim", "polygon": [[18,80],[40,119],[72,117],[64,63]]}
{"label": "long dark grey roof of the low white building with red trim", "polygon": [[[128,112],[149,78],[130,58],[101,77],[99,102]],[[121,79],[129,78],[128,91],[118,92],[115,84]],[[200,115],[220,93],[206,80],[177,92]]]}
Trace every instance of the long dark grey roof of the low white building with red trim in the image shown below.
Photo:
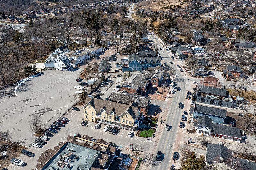
{"label": "long dark grey roof of the low white building with red trim", "polygon": [[236,138],[242,139],[240,129],[236,128],[236,127],[213,123],[212,131],[214,131],[214,133],[216,133],[216,134],[221,134],[221,135],[225,135],[225,136],[236,137]]}

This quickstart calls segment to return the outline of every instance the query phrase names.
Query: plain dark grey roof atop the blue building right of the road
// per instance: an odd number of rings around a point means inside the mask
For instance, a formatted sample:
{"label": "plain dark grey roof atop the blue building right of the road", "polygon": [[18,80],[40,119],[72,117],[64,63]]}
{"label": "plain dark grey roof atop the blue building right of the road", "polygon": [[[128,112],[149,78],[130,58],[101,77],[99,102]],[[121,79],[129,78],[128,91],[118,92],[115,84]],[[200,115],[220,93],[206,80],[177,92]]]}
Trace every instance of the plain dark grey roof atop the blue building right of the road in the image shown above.
{"label": "plain dark grey roof atop the blue building right of the road", "polygon": [[227,111],[225,109],[220,109],[216,107],[209,107],[209,106],[203,106],[196,104],[194,107],[195,112],[219,116],[219,117],[226,117]]}

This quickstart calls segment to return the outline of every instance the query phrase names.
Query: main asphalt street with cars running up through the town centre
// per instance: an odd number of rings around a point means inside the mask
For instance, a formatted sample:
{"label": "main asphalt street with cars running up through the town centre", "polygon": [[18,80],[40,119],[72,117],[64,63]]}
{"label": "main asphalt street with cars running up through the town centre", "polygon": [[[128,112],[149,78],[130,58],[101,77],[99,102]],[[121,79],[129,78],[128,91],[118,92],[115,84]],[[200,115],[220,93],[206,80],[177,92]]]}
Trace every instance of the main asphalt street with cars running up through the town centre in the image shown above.
{"label": "main asphalt street with cars running up through the town centre", "polygon": [[[158,43],[159,48],[164,48],[160,39],[155,34],[149,33],[148,37],[155,44]],[[171,61],[173,62],[172,58],[170,57],[172,53],[167,53],[166,50],[159,50],[159,52],[162,58],[162,63],[167,63],[168,66],[176,70],[176,74],[178,74],[179,77],[176,78],[175,81],[178,84],[177,87],[181,88],[181,91],[177,92],[177,90],[175,90],[176,92],[174,93],[172,103],[170,106],[168,106],[169,109],[168,109],[168,114],[167,114],[165,123],[169,123],[171,125],[171,129],[168,131],[164,129],[162,130],[160,138],[156,145],[153,159],[155,159],[155,156],[158,151],[161,151],[164,154],[164,156],[162,156],[161,163],[156,164],[155,167],[152,167],[156,170],[168,169],[173,164],[172,153],[174,152],[173,151],[174,143],[176,140],[177,131],[180,128],[179,123],[181,121],[181,115],[183,113],[183,109],[178,108],[178,105],[179,105],[179,102],[184,103],[186,93],[187,93],[185,88],[185,81],[188,79],[181,74],[176,64],[170,63]]]}

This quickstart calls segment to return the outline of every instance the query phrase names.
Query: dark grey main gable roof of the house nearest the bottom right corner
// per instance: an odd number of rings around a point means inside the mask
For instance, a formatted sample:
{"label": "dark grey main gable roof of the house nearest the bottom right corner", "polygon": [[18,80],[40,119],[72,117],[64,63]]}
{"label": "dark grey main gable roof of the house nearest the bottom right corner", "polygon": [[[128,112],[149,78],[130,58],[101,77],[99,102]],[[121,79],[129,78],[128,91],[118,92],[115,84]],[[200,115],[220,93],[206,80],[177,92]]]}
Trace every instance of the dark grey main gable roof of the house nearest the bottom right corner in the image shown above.
{"label": "dark grey main gable roof of the house nearest the bottom right corner", "polygon": [[218,162],[220,157],[223,161],[229,159],[229,154],[233,154],[230,149],[220,144],[208,144],[206,150],[206,162]]}

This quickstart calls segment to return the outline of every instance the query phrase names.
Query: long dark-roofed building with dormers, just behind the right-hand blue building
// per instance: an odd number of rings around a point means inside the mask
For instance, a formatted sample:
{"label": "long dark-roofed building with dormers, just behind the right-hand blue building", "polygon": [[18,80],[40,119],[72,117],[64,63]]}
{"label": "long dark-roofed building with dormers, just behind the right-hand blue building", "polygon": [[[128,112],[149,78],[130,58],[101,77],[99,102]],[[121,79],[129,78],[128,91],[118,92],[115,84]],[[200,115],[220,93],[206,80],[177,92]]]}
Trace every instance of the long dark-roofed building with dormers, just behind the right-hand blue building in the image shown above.
{"label": "long dark-roofed building with dormers, just behind the right-hand blue building", "polygon": [[196,101],[220,107],[232,107],[232,97],[226,89],[214,86],[199,85],[196,90]]}

